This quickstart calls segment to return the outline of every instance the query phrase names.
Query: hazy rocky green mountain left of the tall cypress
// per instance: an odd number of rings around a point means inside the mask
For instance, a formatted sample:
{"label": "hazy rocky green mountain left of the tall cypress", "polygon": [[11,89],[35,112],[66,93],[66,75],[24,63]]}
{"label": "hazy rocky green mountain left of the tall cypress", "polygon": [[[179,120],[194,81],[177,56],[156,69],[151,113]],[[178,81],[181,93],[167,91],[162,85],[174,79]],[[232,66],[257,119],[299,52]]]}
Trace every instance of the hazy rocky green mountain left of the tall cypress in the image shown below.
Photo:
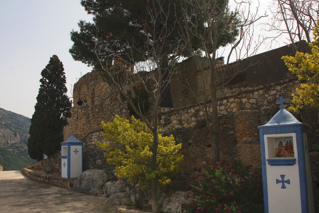
{"label": "hazy rocky green mountain left of the tall cypress", "polygon": [[20,170],[35,162],[28,154],[31,119],[0,108],[0,165]]}

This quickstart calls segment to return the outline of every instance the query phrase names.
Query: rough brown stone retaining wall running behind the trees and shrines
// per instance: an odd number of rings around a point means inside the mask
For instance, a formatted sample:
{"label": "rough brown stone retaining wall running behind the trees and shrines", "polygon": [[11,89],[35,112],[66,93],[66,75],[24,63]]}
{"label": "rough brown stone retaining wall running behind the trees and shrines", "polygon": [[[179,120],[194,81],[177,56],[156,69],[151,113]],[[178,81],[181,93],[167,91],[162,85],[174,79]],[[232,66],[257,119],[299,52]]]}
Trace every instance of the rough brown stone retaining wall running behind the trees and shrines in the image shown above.
{"label": "rough brown stone retaining wall running behind the trees and shrines", "polygon": [[[218,99],[219,113],[219,148],[220,160],[227,162],[235,154],[240,154],[244,165],[253,165],[258,171],[260,164],[259,131],[257,126],[267,123],[280,109],[279,96],[286,98],[285,108],[292,104],[291,94],[300,86],[296,78],[278,81],[269,85],[251,89],[242,88],[241,92],[222,96]],[[82,98],[83,100],[83,98]],[[98,102],[98,101],[95,101]],[[104,104],[74,106],[72,118],[64,128],[64,140],[73,135],[84,142],[84,171],[88,169],[113,170],[103,156],[103,150],[95,141],[105,142],[102,137],[100,122],[112,121],[116,114],[128,118],[127,103],[120,96],[113,98],[113,103],[103,100]],[[89,103],[90,104],[90,103]],[[182,189],[187,182],[194,179],[198,168],[212,165],[212,148],[210,133],[203,119],[204,104],[194,104],[181,109],[160,108],[159,122],[164,135],[173,134],[177,143],[182,143],[181,153],[184,155],[182,171],[174,178],[173,186]],[[211,110],[209,103],[208,111]],[[318,120],[314,110],[304,108],[294,115],[303,123],[310,125],[308,132],[309,144],[317,142]],[[317,115],[317,114],[315,114]],[[313,183],[319,186],[319,152],[311,149],[310,162]],[[315,190],[318,194],[319,190]]]}

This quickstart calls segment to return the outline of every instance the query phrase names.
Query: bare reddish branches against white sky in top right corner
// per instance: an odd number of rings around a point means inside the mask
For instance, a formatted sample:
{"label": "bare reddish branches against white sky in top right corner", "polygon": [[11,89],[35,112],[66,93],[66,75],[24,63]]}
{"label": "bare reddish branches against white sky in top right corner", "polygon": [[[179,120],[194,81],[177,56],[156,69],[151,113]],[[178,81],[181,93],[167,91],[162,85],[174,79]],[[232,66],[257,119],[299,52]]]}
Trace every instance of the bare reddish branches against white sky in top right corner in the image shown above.
{"label": "bare reddish branches against white sky in top right corner", "polygon": [[270,45],[284,37],[287,44],[291,44],[294,51],[297,51],[295,42],[311,42],[312,32],[319,19],[319,1],[274,0],[272,3],[269,8],[273,17],[269,23],[264,23],[266,31],[275,33],[274,36],[267,36]]}

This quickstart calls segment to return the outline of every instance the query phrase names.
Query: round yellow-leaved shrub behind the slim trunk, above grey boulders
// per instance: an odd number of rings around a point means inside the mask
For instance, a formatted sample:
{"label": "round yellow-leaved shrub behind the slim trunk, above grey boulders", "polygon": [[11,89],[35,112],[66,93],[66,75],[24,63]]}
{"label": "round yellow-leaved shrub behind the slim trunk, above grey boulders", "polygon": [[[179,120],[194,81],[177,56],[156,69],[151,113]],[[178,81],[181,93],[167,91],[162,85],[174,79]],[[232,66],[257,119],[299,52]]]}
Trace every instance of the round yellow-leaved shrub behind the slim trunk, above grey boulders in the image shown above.
{"label": "round yellow-leaved shrub behind the slim trunk, above grey boulders", "polygon": [[157,151],[157,169],[151,170],[153,134],[145,123],[131,117],[131,122],[115,116],[113,122],[104,123],[103,137],[109,143],[96,141],[104,149],[109,164],[115,166],[115,176],[127,181],[139,183],[147,188],[153,177],[157,177],[161,187],[170,183],[170,177],[179,171],[182,155],[178,150],[181,144],[175,144],[174,137],[159,134]]}

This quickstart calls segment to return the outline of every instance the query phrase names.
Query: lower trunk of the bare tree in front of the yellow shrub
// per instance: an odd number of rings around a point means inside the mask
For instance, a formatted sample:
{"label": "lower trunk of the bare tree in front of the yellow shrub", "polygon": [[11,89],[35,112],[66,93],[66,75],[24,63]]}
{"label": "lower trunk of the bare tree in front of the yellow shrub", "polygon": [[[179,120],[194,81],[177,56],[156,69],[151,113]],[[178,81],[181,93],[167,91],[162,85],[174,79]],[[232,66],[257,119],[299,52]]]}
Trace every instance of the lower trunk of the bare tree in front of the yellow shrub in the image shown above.
{"label": "lower trunk of the bare tree in front of the yellow shrub", "polygon": [[[157,129],[153,131],[153,148],[152,148],[152,162],[151,162],[151,168],[152,171],[156,171],[156,162],[157,162],[157,148],[158,148],[158,141],[159,137],[157,134]],[[158,202],[158,196],[157,196],[157,177],[152,178],[152,184],[151,184],[151,197],[152,197],[152,212],[159,212],[159,202]]]}

